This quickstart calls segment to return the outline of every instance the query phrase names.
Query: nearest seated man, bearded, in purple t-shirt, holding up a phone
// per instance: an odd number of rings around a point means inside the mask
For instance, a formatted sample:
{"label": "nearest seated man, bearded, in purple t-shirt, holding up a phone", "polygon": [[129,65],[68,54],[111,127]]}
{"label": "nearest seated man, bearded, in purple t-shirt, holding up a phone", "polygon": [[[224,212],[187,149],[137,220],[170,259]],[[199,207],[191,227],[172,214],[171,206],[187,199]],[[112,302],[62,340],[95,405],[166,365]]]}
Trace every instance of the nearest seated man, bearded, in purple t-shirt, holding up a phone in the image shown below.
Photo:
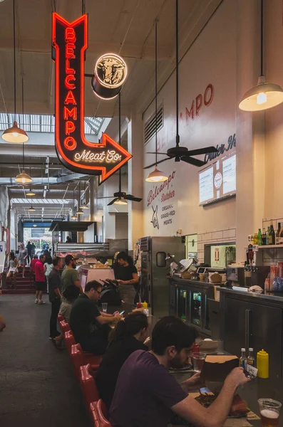
{"label": "nearest seated man, bearded, in purple t-shirt, holding up a phone", "polygon": [[209,408],[189,391],[197,389],[200,374],[182,384],[168,368],[184,367],[195,341],[195,330],[177,317],[163,317],[154,327],[151,351],[137,350],[123,364],[110,406],[113,427],[167,427],[173,413],[195,427],[222,426],[238,386],[247,383],[242,368],[225,380],[220,395]]}

